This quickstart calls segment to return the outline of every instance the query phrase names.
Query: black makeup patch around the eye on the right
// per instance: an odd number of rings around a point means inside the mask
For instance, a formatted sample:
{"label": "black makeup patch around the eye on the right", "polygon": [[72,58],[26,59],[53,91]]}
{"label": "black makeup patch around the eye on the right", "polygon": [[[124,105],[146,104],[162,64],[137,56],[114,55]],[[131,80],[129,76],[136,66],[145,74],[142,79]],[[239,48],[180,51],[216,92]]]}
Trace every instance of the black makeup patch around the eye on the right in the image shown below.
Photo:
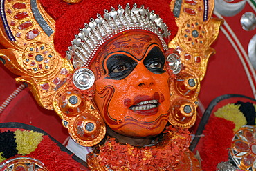
{"label": "black makeup patch around the eye on the right", "polygon": [[143,61],[143,64],[149,71],[155,74],[162,74],[165,72],[163,69],[165,65],[165,55],[159,47],[155,46],[149,51],[147,57]]}

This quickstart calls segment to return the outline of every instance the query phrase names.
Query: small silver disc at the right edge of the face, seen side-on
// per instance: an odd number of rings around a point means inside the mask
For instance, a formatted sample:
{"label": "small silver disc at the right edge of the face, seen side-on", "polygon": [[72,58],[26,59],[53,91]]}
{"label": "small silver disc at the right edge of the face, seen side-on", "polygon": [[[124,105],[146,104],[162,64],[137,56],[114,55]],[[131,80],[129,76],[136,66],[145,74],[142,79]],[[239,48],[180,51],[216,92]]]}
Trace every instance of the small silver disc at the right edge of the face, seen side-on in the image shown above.
{"label": "small silver disc at the right edge of the face, seen side-on", "polygon": [[178,54],[169,54],[166,61],[173,74],[179,74],[179,72],[181,72],[182,63]]}

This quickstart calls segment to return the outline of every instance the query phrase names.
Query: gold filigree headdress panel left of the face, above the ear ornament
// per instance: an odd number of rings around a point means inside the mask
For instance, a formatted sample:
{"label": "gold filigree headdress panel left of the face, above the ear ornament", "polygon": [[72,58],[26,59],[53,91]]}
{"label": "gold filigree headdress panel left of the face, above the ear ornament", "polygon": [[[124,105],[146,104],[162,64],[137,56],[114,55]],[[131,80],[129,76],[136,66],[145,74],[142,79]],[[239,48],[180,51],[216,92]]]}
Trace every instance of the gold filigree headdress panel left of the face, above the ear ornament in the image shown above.
{"label": "gold filigree headdress panel left of the face, above the ear ornament", "polygon": [[55,21],[38,1],[3,1],[0,57],[6,67],[21,76],[39,105],[53,109],[53,94],[66,81],[73,66],[53,48]]}

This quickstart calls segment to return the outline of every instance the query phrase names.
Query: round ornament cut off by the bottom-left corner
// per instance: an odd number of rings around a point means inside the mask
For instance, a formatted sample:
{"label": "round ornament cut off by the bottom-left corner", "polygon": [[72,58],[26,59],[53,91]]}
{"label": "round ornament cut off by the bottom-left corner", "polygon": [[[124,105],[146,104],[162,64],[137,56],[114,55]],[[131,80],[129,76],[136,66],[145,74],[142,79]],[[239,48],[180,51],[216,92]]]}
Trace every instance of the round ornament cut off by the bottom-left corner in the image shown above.
{"label": "round ornament cut off by the bottom-left corner", "polygon": [[41,161],[30,157],[17,157],[8,159],[0,165],[0,170],[47,171],[46,167]]}

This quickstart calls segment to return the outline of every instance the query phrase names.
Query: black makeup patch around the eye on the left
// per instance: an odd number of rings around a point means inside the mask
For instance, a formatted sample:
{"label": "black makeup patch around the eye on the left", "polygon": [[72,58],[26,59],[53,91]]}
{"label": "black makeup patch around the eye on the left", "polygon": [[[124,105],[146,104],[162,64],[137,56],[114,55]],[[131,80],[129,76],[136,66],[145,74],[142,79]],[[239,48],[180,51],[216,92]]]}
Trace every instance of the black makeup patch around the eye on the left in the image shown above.
{"label": "black makeup patch around the eye on the left", "polygon": [[125,54],[113,54],[107,59],[107,79],[125,79],[137,66],[137,62]]}

